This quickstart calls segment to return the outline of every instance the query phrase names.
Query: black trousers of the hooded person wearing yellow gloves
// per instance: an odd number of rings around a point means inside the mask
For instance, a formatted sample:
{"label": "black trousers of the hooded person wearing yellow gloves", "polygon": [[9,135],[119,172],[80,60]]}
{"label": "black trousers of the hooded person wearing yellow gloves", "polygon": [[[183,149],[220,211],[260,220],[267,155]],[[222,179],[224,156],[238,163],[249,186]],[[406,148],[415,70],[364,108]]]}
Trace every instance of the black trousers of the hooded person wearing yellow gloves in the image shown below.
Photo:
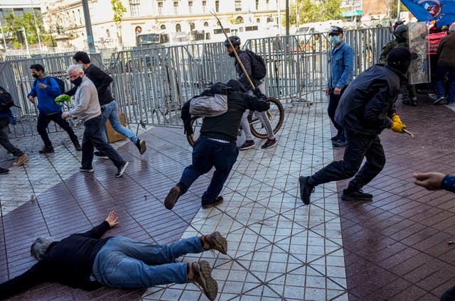
{"label": "black trousers of the hooded person wearing yellow gloves", "polygon": [[[366,158],[362,168],[363,158]],[[309,178],[310,185],[345,180],[349,182],[348,190],[360,190],[375,178],[384,168],[385,155],[378,135],[364,135],[346,131],[346,149],[341,161],[334,161]],[[360,168],[360,170],[359,170]]]}

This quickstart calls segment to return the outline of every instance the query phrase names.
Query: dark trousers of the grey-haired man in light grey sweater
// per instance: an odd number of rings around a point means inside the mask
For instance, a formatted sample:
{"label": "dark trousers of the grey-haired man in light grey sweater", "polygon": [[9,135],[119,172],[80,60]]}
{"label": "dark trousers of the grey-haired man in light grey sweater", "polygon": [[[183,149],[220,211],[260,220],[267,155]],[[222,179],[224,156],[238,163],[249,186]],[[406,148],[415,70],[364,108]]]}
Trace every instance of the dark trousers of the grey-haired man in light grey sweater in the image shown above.
{"label": "dark trousers of the grey-haired man in light grey sweater", "polygon": [[84,138],[82,138],[82,168],[92,168],[94,148],[97,148],[98,151],[107,155],[117,168],[121,167],[124,163],[122,157],[120,157],[112,146],[102,139],[101,115],[85,121],[84,126]]}

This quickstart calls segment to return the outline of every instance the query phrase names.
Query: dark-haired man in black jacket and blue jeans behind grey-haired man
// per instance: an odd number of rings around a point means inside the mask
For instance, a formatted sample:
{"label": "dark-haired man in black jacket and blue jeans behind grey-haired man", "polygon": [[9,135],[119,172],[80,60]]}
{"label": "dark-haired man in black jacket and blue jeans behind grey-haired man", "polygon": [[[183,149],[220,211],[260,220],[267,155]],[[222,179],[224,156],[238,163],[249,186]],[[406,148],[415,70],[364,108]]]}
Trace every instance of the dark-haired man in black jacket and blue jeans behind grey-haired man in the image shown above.
{"label": "dark-haired man in black jacket and blue jeans behind grey-haired man", "polygon": [[[98,91],[98,99],[100,100],[101,106],[101,134],[102,138],[107,142],[107,137],[105,133],[106,128],[106,121],[109,119],[109,122],[114,128],[114,131],[121,133],[123,136],[129,138],[129,140],[134,143],[134,145],[139,150],[139,153],[142,155],[145,153],[147,147],[146,142],[142,139],[139,139],[134,133],[127,127],[122,126],[120,124],[119,119],[119,106],[115,101],[114,97],[109,90],[109,84],[112,82],[112,77],[110,77],[106,72],[101,70],[99,67],[95,66],[90,62],[90,58],[87,53],[83,51],[78,51],[73,56],[73,60],[77,63],[82,65],[84,68],[85,75],[87,75],[90,80],[92,80],[95,87],[97,87]],[[65,94],[73,96],[76,92],[77,87],[73,87],[70,91],[65,92]],[[105,158],[107,159],[107,155],[101,153],[100,151],[95,151],[95,156],[98,158]]]}

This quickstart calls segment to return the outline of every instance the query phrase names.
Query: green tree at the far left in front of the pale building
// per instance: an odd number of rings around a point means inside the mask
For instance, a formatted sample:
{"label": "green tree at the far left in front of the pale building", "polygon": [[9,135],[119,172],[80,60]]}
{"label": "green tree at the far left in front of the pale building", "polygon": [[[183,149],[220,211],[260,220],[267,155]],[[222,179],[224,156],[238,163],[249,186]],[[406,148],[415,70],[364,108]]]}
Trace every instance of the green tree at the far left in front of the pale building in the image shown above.
{"label": "green tree at the far left in front of the pale building", "polygon": [[[36,23],[35,23],[36,18]],[[36,28],[38,26],[38,29]],[[38,43],[38,33],[42,40],[48,40],[48,35],[45,35],[45,29],[43,27],[43,18],[40,11],[35,10],[35,16],[32,13],[23,13],[21,17],[14,16],[10,11],[4,18],[4,33],[9,34],[11,37],[14,48],[21,46],[18,41],[16,31],[22,31],[22,28],[26,31],[26,37],[28,44]],[[25,43],[25,42],[24,42]]]}

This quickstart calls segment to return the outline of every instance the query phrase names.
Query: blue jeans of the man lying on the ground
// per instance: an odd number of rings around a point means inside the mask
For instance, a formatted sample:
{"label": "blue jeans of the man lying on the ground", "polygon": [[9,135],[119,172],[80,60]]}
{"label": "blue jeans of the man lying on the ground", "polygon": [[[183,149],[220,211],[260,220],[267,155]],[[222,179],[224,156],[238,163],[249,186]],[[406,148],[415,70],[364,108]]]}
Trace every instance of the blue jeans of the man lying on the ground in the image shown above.
{"label": "blue jeans of the man lying on the ground", "polygon": [[202,253],[200,237],[165,246],[117,236],[109,239],[93,263],[95,278],[110,288],[151,288],[168,283],[188,283],[187,263],[173,263],[186,253]]}

